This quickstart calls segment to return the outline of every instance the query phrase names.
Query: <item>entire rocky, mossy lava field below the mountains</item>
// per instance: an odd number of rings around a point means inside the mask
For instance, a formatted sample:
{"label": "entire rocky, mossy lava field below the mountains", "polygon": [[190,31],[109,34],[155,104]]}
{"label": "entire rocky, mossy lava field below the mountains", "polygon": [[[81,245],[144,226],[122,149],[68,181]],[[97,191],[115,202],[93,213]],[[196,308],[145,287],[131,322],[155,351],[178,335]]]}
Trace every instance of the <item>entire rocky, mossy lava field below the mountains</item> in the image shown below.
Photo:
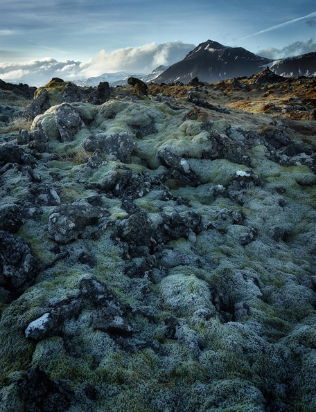
{"label": "entire rocky, mossy lava field below the mountains", "polygon": [[315,86],[3,92],[1,412],[316,410]]}

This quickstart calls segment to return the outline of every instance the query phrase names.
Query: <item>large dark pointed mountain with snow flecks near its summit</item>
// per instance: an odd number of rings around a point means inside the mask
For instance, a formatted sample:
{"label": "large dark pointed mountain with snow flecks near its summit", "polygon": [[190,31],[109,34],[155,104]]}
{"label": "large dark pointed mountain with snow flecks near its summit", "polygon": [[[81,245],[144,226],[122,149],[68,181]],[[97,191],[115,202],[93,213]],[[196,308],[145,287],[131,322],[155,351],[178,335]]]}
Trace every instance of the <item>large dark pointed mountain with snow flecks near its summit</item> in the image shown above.
{"label": "large dark pointed mountain with snow flecks near its summit", "polygon": [[195,76],[203,82],[219,82],[239,76],[249,76],[262,71],[273,60],[251,53],[242,47],[223,46],[217,42],[201,43],[188,53],[184,60],[170,66],[155,82],[187,83]]}

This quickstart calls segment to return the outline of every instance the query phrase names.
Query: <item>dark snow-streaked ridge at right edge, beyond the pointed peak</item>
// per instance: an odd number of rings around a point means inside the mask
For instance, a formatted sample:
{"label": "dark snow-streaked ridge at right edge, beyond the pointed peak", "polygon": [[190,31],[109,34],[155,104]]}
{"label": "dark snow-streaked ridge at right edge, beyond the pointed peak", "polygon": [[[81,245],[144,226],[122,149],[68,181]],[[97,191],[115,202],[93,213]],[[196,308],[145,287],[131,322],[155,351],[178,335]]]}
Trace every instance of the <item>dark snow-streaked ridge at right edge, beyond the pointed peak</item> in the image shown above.
{"label": "dark snow-streaked ridge at right edge, beyond the pointed peak", "polygon": [[316,76],[316,52],[275,60],[270,69],[285,78]]}

